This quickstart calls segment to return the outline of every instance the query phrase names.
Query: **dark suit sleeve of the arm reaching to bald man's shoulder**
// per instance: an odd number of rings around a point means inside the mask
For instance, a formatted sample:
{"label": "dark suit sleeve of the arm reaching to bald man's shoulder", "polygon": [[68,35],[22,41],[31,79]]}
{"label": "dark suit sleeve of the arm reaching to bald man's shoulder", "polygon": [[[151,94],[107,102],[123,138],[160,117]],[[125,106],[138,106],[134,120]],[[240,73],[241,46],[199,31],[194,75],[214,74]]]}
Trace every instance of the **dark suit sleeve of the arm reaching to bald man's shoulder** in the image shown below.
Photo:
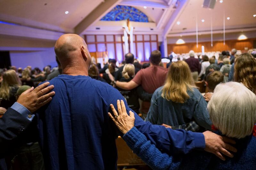
{"label": "dark suit sleeve of the arm reaching to bald man's shoulder", "polygon": [[[0,118],[0,150],[3,150],[5,143],[15,139],[31,123],[26,117],[12,108],[8,108]],[[2,152],[2,151],[1,151]]]}

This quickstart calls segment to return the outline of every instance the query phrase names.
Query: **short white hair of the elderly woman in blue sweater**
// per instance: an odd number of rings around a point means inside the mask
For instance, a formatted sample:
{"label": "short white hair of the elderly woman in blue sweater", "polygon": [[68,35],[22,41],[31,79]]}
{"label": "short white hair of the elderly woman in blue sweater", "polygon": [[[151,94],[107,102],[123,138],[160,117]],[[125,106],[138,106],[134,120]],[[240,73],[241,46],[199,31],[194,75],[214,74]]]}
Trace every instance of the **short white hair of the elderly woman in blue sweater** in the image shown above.
{"label": "short white hair of the elderly woman in blue sweater", "polygon": [[217,85],[207,109],[212,123],[223,135],[240,139],[252,134],[256,95],[242,83]]}

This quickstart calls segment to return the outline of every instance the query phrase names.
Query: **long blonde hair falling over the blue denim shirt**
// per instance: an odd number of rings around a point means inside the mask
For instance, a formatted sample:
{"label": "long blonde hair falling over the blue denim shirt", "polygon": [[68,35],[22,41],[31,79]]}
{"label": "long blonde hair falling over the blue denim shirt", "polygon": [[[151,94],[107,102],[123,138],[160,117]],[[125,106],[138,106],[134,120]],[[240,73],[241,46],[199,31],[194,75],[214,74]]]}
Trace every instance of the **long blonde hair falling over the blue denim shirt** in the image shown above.
{"label": "long blonde hair falling over the blue denim shirt", "polygon": [[177,103],[189,99],[187,90],[193,91],[194,80],[188,64],[185,61],[173,62],[168,70],[162,89],[162,97]]}

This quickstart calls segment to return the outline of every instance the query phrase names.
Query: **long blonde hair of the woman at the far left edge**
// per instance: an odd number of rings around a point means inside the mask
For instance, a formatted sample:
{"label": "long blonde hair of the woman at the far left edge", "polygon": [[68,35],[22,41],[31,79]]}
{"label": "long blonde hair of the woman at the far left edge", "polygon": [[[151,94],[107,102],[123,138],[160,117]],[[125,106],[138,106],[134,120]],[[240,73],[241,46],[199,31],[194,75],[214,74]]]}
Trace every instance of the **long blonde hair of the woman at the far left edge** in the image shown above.
{"label": "long blonde hair of the woman at the far left edge", "polygon": [[10,89],[12,87],[20,87],[20,80],[14,70],[7,70],[3,74],[3,81],[0,86],[0,97],[9,100]]}

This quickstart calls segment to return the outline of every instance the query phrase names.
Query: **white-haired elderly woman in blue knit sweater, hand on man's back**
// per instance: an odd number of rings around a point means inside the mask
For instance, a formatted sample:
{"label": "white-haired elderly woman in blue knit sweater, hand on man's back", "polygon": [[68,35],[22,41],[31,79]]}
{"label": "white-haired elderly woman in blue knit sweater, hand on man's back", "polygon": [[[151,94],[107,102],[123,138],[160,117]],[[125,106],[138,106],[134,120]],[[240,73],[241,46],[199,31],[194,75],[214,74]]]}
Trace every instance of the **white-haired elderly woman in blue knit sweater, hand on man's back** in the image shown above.
{"label": "white-haired elderly woman in blue knit sweater, hand on man's back", "polygon": [[124,133],[128,146],[152,169],[256,169],[256,95],[243,84],[229,82],[217,85],[207,109],[215,133],[236,141],[237,152],[225,161],[211,153],[193,151],[186,155],[168,155],[134,127],[134,114],[126,113],[124,102],[118,104],[116,118],[109,116]]}

